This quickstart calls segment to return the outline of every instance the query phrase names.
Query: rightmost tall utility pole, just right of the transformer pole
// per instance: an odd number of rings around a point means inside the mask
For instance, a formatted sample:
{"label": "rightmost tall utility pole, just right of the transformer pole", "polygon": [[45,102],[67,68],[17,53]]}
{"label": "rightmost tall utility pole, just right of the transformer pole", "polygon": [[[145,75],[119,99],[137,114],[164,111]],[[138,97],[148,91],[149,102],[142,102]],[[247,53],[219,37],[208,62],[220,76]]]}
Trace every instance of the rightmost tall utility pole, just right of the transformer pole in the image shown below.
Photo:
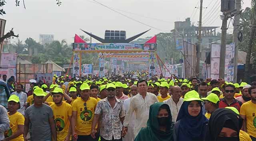
{"label": "rightmost tall utility pole, just right of the transformer pole", "polygon": [[241,8],[241,0],[236,0],[235,2],[235,9],[236,14],[234,15],[234,30],[233,30],[233,43],[235,44],[235,55],[234,55],[234,81],[233,83],[237,82],[237,59],[238,59],[238,28],[239,28],[239,21],[240,21],[240,8]]}

